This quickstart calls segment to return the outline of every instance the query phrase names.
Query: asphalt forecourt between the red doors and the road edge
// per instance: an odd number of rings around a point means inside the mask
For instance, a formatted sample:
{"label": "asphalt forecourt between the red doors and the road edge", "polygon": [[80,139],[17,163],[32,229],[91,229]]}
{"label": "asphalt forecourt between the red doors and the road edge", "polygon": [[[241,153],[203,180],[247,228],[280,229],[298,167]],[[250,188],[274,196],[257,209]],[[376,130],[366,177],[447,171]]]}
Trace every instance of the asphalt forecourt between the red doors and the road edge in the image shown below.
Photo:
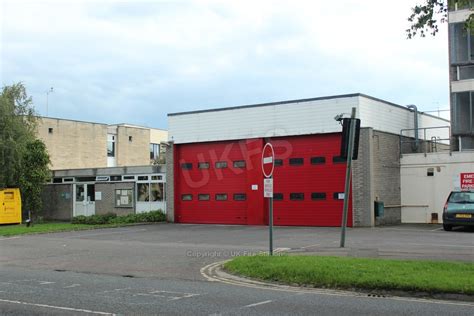
{"label": "asphalt forecourt between the red doors and the road edge", "polygon": [[[0,238],[8,267],[200,279],[206,264],[268,250],[264,226],[156,224]],[[291,253],[474,261],[474,233],[438,225],[340,230],[275,227],[274,247]]]}

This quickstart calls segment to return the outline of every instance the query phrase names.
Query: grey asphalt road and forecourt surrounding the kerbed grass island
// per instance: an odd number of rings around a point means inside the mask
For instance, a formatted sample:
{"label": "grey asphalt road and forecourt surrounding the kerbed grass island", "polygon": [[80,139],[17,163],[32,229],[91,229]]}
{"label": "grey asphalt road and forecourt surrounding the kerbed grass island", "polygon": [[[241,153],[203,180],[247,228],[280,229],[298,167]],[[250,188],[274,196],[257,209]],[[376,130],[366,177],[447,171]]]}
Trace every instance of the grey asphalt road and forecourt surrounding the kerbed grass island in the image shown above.
{"label": "grey asphalt road and forecourt surrounding the kerbed grass island", "polygon": [[[474,234],[438,226],[275,229],[275,247],[349,256],[474,260]],[[256,226],[158,224],[0,237],[2,315],[472,315],[472,302],[282,291],[209,282],[200,269],[265,251]]]}

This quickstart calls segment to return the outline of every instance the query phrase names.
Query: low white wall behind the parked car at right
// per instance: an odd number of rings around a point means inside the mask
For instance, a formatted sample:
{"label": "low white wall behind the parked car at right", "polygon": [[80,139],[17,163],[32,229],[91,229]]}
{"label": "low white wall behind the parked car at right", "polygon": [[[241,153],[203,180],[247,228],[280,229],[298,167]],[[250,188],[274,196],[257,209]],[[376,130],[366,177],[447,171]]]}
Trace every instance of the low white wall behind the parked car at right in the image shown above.
{"label": "low white wall behind the parked car at right", "polygon": [[[428,168],[434,176],[427,176]],[[431,213],[443,221],[449,193],[459,189],[459,175],[474,172],[474,152],[408,154],[400,159],[402,223],[431,223]]]}

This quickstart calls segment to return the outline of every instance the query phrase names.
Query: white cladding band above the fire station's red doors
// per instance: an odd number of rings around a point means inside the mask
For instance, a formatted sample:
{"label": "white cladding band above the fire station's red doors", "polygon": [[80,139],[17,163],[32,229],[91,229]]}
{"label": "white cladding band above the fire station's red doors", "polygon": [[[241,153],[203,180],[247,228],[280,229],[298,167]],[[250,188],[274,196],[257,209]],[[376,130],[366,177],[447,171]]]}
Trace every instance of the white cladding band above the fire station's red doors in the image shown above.
{"label": "white cladding band above the fire station's red doors", "polygon": [[[363,95],[169,115],[169,140],[176,144],[272,136],[308,135],[341,131],[334,120],[357,108],[362,127],[400,134],[413,128],[413,112]],[[419,114],[419,126],[449,122]],[[445,132],[448,138],[448,130]]]}

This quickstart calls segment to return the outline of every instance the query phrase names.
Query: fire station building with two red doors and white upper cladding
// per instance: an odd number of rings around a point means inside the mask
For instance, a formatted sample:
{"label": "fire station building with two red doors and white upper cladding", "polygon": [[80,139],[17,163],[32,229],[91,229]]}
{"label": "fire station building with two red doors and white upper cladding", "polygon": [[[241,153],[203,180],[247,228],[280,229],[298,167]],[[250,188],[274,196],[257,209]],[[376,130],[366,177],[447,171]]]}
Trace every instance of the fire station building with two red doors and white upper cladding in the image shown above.
{"label": "fire station building with two red doors and white upper cladding", "polygon": [[340,226],[346,161],[335,116],[353,107],[361,130],[348,226],[400,223],[401,150],[446,149],[449,121],[363,94],[168,114],[168,220],[266,225],[261,158],[271,143],[274,224]]}

